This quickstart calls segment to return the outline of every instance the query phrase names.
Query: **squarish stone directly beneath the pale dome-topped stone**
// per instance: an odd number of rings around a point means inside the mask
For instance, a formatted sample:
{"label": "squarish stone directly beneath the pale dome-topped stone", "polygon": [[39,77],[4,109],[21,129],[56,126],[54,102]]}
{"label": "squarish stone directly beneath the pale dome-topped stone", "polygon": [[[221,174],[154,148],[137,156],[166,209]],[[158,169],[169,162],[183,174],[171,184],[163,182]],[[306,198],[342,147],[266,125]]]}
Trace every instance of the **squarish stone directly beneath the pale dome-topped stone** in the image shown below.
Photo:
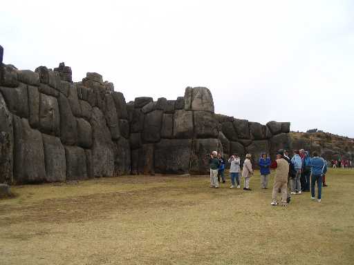
{"label": "squarish stone directly beneath the pale dome-topped stone", "polygon": [[218,137],[218,121],[214,113],[194,111],[194,133],[196,138]]}

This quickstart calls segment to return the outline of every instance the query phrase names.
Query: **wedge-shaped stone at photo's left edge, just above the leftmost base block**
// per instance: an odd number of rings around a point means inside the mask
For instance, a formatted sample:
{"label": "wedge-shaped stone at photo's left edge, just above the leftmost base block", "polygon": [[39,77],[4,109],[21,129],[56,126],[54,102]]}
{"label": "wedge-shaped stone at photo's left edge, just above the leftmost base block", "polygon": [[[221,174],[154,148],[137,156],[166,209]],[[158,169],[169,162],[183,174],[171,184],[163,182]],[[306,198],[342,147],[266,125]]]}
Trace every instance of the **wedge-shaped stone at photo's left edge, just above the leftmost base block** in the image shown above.
{"label": "wedge-shaped stone at photo's left edge, just above the leftmost base block", "polygon": [[28,92],[27,85],[19,84],[17,88],[0,86],[0,91],[6,101],[8,109],[19,117],[28,118]]}

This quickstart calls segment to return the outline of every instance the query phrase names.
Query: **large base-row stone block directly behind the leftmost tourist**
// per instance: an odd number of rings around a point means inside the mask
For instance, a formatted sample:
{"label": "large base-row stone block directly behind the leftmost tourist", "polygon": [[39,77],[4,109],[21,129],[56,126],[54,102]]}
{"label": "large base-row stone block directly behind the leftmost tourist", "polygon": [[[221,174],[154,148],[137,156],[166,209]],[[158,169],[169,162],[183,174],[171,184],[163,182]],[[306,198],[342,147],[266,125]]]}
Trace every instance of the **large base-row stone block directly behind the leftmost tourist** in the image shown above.
{"label": "large base-row stone block directly behind the leftmost tourist", "polygon": [[209,158],[206,155],[214,150],[223,153],[223,146],[219,139],[194,139],[190,172],[193,174],[209,173]]}

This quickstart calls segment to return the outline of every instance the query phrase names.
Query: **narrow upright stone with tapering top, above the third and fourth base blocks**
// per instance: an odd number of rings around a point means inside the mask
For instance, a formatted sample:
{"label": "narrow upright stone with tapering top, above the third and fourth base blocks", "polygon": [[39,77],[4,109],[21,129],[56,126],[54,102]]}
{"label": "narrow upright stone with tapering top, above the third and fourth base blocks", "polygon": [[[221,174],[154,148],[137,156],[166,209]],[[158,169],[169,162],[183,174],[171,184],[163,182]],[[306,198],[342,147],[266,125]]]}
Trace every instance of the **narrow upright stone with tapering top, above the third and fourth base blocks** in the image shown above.
{"label": "narrow upright stone with tapering top, above the third and fourth base blocks", "polygon": [[63,144],[73,146],[77,143],[76,119],[71,112],[68,99],[64,95],[59,95],[58,103],[60,113],[60,139]]}

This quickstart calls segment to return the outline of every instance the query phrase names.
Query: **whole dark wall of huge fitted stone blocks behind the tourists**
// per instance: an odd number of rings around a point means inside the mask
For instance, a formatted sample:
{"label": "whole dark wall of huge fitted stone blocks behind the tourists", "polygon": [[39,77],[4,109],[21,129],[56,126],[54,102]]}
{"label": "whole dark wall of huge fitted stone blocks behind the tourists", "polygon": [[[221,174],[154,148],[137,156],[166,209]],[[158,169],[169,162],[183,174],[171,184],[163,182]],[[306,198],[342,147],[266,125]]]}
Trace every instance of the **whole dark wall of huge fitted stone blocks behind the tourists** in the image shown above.
{"label": "whole dark wall of huge fitted stone blocks behind the tourists", "polygon": [[211,150],[257,158],[290,142],[290,123],[216,115],[207,88],[126,103],[95,72],[73,82],[64,63],[33,72],[3,64],[2,55],[0,46],[0,183],[201,174]]}

